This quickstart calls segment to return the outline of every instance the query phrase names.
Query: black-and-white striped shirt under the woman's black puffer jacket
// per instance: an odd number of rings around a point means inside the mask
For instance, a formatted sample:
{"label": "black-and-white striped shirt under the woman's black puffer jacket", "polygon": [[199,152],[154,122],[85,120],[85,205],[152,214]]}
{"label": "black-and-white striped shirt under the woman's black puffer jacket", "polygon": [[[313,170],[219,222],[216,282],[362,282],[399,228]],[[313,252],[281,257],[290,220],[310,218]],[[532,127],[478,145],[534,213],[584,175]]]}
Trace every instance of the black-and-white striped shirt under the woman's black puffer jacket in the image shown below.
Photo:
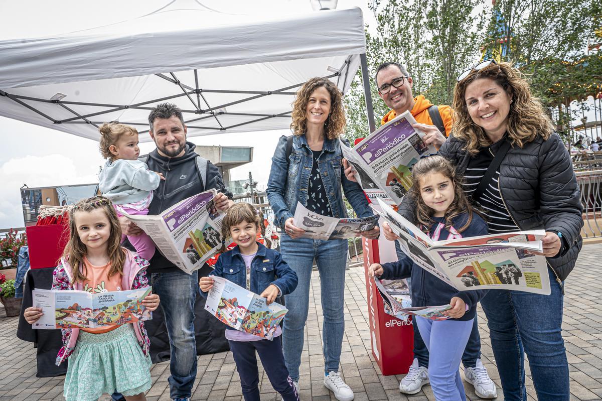
{"label": "black-and-white striped shirt under the woman's black puffer jacket", "polygon": [[[468,162],[468,167],[464,172],[464,191],[469,197],[479,186],[479,182],[485,175],[491,161],[493,161],[491,151],[489,151],[489,148],[483,148],[477,157],[471,158]],[[483,191],[481,198],[476,202],[489,226],[489,234],[519,231],[501,198],[498,187],[499,178],[500,170],[497,170],[491,178],[491,182]]]}

